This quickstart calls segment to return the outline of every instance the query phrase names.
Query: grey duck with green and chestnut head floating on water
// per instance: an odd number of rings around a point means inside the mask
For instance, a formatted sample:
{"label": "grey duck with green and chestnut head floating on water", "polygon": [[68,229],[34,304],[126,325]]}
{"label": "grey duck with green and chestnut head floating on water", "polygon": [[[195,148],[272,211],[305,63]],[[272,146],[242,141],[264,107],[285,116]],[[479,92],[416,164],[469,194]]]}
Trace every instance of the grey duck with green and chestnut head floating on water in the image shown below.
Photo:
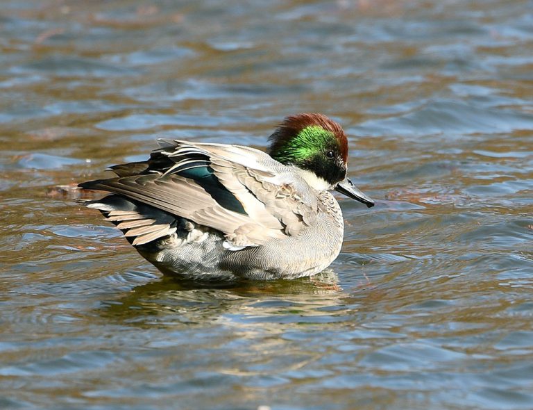
{"label": "grey duck with green and chestnut head floating on water", "polygon": [[163,274],[187,279],[296,279],[334,261],[344,239],[337,190],[375,202],[347,177],[348,139],[320,113],[290,115],[267,152],[243,145],[158,140],[147,161],[80,183],[85,201]]}

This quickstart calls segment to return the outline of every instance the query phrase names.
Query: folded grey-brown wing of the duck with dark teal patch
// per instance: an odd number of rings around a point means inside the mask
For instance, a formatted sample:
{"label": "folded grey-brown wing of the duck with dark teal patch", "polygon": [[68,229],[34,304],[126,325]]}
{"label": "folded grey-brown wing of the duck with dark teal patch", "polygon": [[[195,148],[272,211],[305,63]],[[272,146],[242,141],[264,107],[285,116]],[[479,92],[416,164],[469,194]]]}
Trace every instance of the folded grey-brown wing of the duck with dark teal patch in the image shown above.
{"label": "folded grey-brown wing of the duck with dark teal patch", "polygon": [[305,195],[310,188],[264,152],[176,140],[160,140],[160,145],[145,163],[112,167],[117,178],[80,186],[124,195],[217,229],[230,249],[296,235],[313,223],[316,199]]}

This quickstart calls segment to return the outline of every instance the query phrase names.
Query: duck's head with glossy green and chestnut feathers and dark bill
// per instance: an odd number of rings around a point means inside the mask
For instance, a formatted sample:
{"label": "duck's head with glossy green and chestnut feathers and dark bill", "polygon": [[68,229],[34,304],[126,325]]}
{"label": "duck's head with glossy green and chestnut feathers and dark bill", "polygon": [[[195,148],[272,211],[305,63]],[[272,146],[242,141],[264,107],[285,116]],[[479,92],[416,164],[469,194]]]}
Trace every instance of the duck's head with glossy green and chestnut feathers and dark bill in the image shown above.
{"label": "duck's head with glossy green and chestnut feathers and dark bill", "polygon": [[286,117],[270,136],[269,154],[284,165],[297,167],[312,188],[335,189],[374,206],[371,198],[346,177],[348,140],[342,127],[322,114]]}

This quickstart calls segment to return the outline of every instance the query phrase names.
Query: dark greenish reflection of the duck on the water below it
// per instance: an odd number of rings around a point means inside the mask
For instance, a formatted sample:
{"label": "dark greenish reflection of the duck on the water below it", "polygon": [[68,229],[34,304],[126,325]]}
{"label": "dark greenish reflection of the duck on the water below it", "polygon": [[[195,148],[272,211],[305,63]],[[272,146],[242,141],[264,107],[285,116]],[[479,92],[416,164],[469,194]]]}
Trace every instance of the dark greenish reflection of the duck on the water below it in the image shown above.
{"label": "dark greenish reflection of the duck on the water below it", "polygon": [[[187,281],[176,277],[136,286],[116,300],[102,302],[105,318],[128,323],[202,323],[221,317],[263,317],[273,321],[330,318],[326,308],[346,297],[339,277],[326,270],[313,277],[278,281]],[[307,318],[307,319],[306,319]],[[331,318],[330,318],[331,319]],[[330,321],[330,319],[328,321]]]}

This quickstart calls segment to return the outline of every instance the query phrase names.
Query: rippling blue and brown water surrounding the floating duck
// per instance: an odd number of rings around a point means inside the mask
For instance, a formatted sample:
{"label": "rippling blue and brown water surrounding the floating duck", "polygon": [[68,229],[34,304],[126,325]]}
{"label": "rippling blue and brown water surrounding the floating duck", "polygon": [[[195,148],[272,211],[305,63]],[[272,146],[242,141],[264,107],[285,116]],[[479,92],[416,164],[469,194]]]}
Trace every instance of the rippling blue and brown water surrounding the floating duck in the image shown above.
{"label": "rippling blue and brown water surrounding the floating duck", "polygon": [[[0,407],[532,409],[531,1],[4,1]],[[316,277],[164,278],[79,181],[155,138],[350,134]]]}

